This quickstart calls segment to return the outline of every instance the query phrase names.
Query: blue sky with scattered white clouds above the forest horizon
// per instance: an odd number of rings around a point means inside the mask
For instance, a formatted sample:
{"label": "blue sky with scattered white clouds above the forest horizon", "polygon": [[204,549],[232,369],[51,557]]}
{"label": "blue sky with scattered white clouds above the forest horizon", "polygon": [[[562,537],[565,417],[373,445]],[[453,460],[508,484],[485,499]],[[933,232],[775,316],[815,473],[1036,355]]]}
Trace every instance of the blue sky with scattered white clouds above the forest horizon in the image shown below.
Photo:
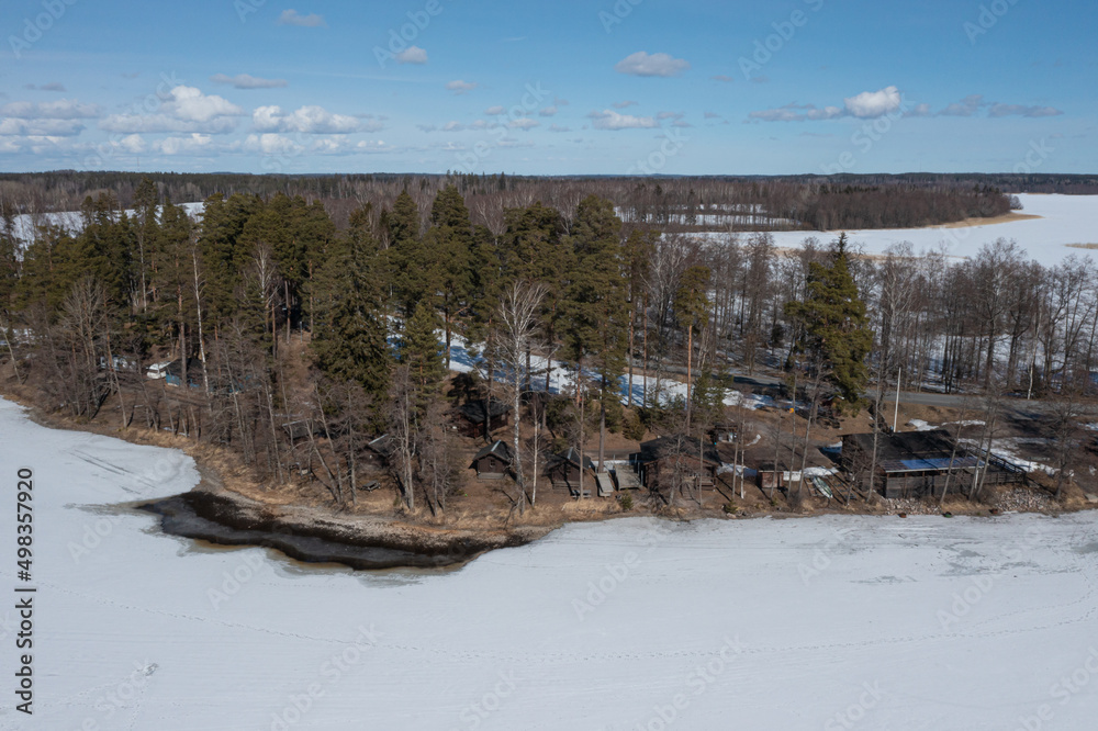
{"label": "blue sky with scattered white clouds above the forest horizon", "polygon": [[1098,171],[1094,0],[14,0],[0,170]]}

